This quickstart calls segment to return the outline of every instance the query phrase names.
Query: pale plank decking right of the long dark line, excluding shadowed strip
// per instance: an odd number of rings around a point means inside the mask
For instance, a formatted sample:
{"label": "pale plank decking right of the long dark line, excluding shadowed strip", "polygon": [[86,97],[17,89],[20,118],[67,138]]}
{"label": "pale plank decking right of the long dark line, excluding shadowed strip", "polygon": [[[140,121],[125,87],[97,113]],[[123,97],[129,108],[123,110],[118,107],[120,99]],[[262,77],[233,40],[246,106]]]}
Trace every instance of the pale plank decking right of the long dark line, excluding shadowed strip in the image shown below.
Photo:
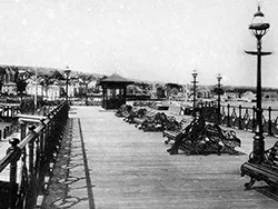
{"label": "pale plank decking right of the long dark line, excluding shadowed strip", "polygon": [[[258,189],[245,190],[249,179],[239,168],[240,156],[169,156],[161,132],[143,132],[98,107],[73,107],[80,119],[89,169],[92,208],[277,208]],[[249,153],[252,133],[237,131],[241,151]],[[266,139],[266,147],[275,138]],[[260,191],[259,191],[260,190]],[[90,192],[89,192],[90,193]],[[275,196],[276,198],[276,196]]]}

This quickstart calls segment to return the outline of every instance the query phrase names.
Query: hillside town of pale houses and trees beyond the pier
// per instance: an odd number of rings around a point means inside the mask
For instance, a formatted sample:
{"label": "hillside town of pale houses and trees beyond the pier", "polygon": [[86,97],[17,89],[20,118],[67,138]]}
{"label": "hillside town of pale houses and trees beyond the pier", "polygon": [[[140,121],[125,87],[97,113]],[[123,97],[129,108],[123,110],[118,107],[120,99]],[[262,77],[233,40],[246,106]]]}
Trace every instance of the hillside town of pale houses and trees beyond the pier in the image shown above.
{"label": "hillside town of pale houses and trees beyond the pier", "polygon": [[[2,97],[30,96],[43,100],[58,100],[66,97],[66,70],[42,67],[0,66],[0,88]],[[88,98],[89,101],[101,98],[99,81],[110,74],[70,71],[68,77],[68,97]],[[215,100],[221,94],[221,101],[256,101],[255,87],[197,86],[198,100]],[[192,84],[172,82],[135,81],[127,88],[128,99],[167,99],[176,101],[192,100]],[[278,89],[262,88],[262,100],[278,100]]]}

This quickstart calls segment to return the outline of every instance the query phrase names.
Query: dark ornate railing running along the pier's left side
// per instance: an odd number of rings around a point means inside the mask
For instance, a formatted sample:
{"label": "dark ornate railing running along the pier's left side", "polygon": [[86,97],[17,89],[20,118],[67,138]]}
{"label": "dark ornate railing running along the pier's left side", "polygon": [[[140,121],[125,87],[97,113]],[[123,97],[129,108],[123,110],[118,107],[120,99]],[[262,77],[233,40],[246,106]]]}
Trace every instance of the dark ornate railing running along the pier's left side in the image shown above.
{"label": "dark ornate railing running along the pier's left side", "polygon": [[44,179],[51,172],[68,119],[68,103],[62,102],[46,117],[19,115],[20,139],[11,138],[11,147],[0,161],[1,209],[31,209],[43,193]]}

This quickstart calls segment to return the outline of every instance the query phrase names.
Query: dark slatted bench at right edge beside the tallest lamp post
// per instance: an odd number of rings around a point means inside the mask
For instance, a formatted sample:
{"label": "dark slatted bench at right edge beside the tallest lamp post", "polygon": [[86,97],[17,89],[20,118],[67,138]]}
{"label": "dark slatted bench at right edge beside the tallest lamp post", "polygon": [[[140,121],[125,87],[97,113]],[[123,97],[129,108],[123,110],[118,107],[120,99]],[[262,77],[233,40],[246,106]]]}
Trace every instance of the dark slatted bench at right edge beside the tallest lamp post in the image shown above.
{"label": "dark slatted bench at right edge beside the tallest lamp post", "polygon": [[250,181],[245,183],[246,189],[250,189],[256,181],[265,181],[274,189],[278,189],[278,141],[270,149],[265,151],[265,160],[255,162],[252,153],[249,161],[245,162],[241,168],[241,176],[250,177]]}

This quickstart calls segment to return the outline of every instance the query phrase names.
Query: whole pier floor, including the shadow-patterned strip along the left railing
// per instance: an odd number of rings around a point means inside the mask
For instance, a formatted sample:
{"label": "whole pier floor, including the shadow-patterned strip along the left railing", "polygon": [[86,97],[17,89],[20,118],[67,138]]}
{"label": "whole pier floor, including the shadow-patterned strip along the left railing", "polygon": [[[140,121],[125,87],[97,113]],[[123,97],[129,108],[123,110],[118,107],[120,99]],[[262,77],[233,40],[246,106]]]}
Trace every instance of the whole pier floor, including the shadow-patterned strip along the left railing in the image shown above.
{"label": "whole pier floor, including the shadow-patterned strip along the left railing", "polygon": [[[277,208],[277,196],[240,166],[252,133],[237,130],[242,155],[169,156],[161,132],[143,132],[100,107],[71,107],[41,208]],[[266,138],[266,149],[275,143]]]}

